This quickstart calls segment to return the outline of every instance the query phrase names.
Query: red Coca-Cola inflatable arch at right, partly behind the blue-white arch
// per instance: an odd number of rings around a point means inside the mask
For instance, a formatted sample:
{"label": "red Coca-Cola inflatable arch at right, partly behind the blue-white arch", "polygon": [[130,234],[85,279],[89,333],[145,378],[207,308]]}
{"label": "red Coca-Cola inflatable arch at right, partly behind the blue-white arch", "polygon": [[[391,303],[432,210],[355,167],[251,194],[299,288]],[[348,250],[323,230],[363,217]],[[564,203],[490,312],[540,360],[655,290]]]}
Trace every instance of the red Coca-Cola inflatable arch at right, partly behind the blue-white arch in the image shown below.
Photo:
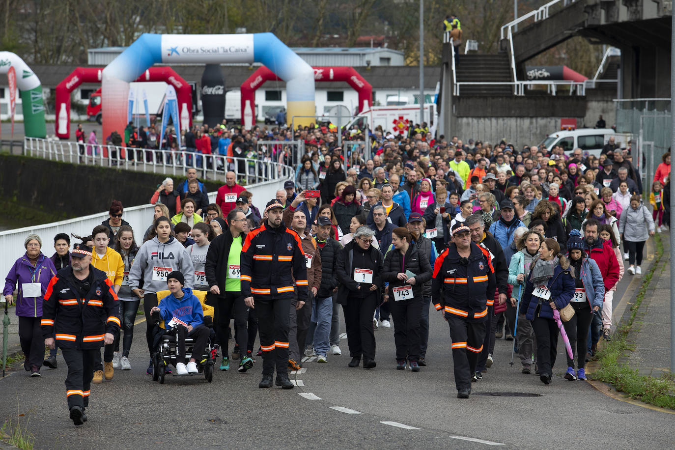
{"label": "red Coca-Cola inflatable arch at right, partly behind the blue-white arch", "polygon": [[[313,67],[314,80],[319,82],[345,81],[358,92],[358,112],[365,111],[373,104],[373,86],[367,82],[354,67]],[[259,67],[242,83],[242,124],[252,121],[251,117],[244,117],[246,102],[250,111],[255,111],[255,91],[266,81],[277,81],[277,77],[267,67]],[[290,115],[287,115],[290,119]],[[246,123],[248,125],[248,123]],[[246,128],[244,125],[244,128]],[[248,126],[250,128],[250,126]],[[247,128],[247,129],[248,129]]]}

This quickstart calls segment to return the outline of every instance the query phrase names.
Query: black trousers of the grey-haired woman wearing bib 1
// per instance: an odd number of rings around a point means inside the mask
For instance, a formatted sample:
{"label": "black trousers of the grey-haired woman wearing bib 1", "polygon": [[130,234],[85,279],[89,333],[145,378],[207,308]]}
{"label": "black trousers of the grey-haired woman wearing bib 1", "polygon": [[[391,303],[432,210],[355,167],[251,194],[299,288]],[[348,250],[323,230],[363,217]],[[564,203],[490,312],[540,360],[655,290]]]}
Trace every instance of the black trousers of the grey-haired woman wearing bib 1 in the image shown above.
{"label": "black trousers of the grey-haired woman wearing bib 1", "polygon": [[366,298],[350,296],[347,299],[347,304],[342,305],[349,354],[352,358],[363,356],[365,360],[375,359],[373,314],[375,314],[376,307],[377,296],[374,291]]}

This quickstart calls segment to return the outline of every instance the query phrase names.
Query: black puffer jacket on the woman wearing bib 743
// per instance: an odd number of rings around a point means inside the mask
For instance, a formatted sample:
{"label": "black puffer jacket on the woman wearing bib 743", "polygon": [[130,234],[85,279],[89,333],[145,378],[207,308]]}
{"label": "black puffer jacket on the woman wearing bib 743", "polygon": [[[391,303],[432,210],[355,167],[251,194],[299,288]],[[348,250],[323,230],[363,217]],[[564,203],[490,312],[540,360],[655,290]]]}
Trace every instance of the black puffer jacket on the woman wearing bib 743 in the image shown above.
{"label": "black puffer jacket on the woman wearing bib 743", "polygon": [[[405,267],[404,267],[405,262]],[[419,248],[415,242],[410,242],[405,256],[396,248],[387,252],[384,258],[384,271],[382,280],[389,281],[389,299],[394,300],[394,287],[406,284],[396,276],[399,273],[410,271],[415,274],[415,284],[412,285],[412,295],[416,300],[422,300],[424,284],[431,279],[431,262],[429,257]]]}

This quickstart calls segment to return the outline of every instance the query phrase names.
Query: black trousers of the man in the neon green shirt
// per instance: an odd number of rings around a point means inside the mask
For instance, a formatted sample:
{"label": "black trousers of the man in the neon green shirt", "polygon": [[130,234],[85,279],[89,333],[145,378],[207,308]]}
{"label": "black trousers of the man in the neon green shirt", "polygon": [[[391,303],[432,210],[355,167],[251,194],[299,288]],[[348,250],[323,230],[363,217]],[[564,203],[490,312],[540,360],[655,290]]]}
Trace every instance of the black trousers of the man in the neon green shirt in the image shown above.
{"label": "black trousers of the man in the neon green shirt", "polygon": [[244,303],[241,292],[225,292],[215,302],[215,334],[223,349],[223,356],[229,354],[229,320],[234,316],[234,339],[240,349],[248,347],[248,306]]}

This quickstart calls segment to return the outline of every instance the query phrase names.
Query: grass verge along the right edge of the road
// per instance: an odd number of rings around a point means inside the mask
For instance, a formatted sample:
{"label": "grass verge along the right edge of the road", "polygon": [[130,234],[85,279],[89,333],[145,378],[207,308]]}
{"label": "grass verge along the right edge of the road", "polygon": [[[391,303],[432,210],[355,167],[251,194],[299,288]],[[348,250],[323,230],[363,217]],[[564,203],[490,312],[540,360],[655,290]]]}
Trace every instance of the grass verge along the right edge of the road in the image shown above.
{"label": "grass verge along the right edge of the road", "polygon": [[[655,235],[655,261],[649,272],[643,277],[635,303],[630,307],[628,322],[612,336],[612,341],[603,345],[598,351],[597,369],[593,372],[593,379],[610,383],[614,388],[626,393],[628,397],[644,401],[659,407],[668,407],[675,410],[675,378],[673,374],[664,374],[659,377],[639,375],[637,369],[630,368],[624,361],[627,350],[634,349],[628,345],[626,337],[631,331],[635,316],[642,305],[647,293],[647,287],[656,271],[664,271],[667,264],[661,265],[661,256],[664,254],[664,244],[661,237]],[[639,325],[636,324],[636,327]]]}

